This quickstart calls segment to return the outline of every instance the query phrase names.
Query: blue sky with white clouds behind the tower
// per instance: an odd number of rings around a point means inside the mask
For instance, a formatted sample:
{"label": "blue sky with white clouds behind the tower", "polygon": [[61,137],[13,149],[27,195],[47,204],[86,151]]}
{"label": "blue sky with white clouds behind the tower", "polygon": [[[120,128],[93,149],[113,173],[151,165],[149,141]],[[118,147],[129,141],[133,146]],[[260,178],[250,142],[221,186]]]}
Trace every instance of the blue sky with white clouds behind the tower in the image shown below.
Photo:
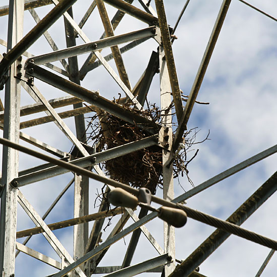
{"label": "blue sky with white clouds behind the tower", "polygon": [[[168,24],[173,27],[185,1],[166,0],[164,2]],[[271,16],[277,17],[277,4],[274,0],[262,2],[249,0],[248,2]],[[180,89],[184,94],[188,95],[190,92],[221,3],[220,0],[191,0],[175,32],[178,39],[174,41],[172,47]],[[8,1],[2,1],[1,4],[8,5]],[[80,0],[74,5],[74,16],[77,23],[89,5],[90,1],[81,4]],[[134,5],[140,7],[136,0]],[[151,5],[155,8],[154,2]],[[106,7],[111,18],[115,10],[108,5]],[[52,6],[47,6],[38,8],[36,11],[40,18],[43,18],[51,8]],[[0,24],[3,26],[0,29],[0,38],[3,40],[7,40],[7,23],[7,16],[0,17]],[[34,25],[34,20],[26,11],[24,13],[24,34]],[[146,27],[146,24],[130,16],[125,16],[115,34],[119,35]],[[96,9],[84,26],[84,32],[91,41],[94,41],[99,39],[103,30]],[[62,19],[59,19],[49,29],[49,33],[59,49],[66,47]],[[77,43],[82,44],[83,41],[78,38]],[[188,167],[189,177],[195,186],[276,144],[276,45],[276,22],[238,0],[233,0],[197,97],[198,101],[209,102],[210,104],[195,104],[188,121],[188,128],[198,127],[198,141],[203,140],[210,131],[210,140],[195,146],[195,150],[199,149],[199,152]],[[154,40],[149,40],[123,54],[122,57],[132,87],[141,77],[152,51],[156,50],[157,46],[158,44]],[[6,51],[5,47],[1,45],[0,48],[1,53]],[[28,49],[28,52],[38,55],[51,52],[51,48],[47,45],[44,37],[41,37]],[[110,49],[105,49],[102,52],[103,55],[108,53],[110,53]],[[87,55],[78,57],[79,67],[86,57]],[[113,61],[109,63],[115,68]],[[61,66],[59,62],[54,62],[54,64]],[[48,100],[65,95],[38,80],[35,80],[35,85]],[[82,86],[99,91],[102,96],[111,100],[113,97],[117,98],[118,93],[122,93],[102,66],[90,72],[82,82]],[[160,105],[159,92],[159,76],[156,75],[148,96],[151,103]],[[4,91],[0,92],[0,98],[4,103]],[[21,106],[32,103],[31,97],[22,89]],[[57,110],[62,111],[64,108]],[[25,116],[21,121],[44,115],[44,113],[39,113]],[[64,122],[74,131],[72,118],[65,119]],[[53,123],[26,128],[22,131],[65,152],[69,152],[72,147],[72,144]],[[0,131],[0,135],[3,136],[2,131]],[[27,145],[22,141],[21,143]],[[2,156],[2,148],[0,154]],[[42,163],[36,158],[20,154],[20,170]],[[275,154],[189,198],[187,205],[225,220],[276,171],[276,163]],[[73,174],[71,173],[60,175],[27,185],[21,191],[42,216],[72,177]],[[183,189],[187,191],[192,188],[185,177],[180,177],[180,184],[175,180],[175,196],[182,194]],[[94,200],[97,189],[100,190],[101,187],[102,184],[94,180],[90,181],[90,213],[97,210],[94,208]],[[159,190],[157,195],[161,195],[161,193]],[[277,223],[274,220],[277,209],[276,200],[276,195],[273,194],[242,227],[276,239]],[[72,217],[73,187],[64,194],[45,222],[48,224]],[[118,218],[114,218],[112,225],[107,228],[106,232],[103,232],[104,238],[107,237],[117,220]],[[130,220],[126,227],[131,223]],[[90,224],[90,228],[92,224]],[[17,230],[24,230],[33,226],[33,223],[19,206]],[[146,227],[163,246],[163,222],[160,219],[154,219],[146,224]],[[176,258],[185,259],[214,230],[213,227],[188,219],[183,228],[175,230]],[[73,228],[55,231],[54,234],[67,251],[72,254]],[[100,266],[120,265],[129,239],[130,235],[125,238],[125,242],[120,240],[115,243]],[[19,241],[22,242],[22,240]],[[42,235],[34,236],[27,245],[52,258],[58,258]],[[254,276],[269,251],[270,249],[266,247],[231,235],[200,265],[199,272],[205,276],[215,277]],[[118,253],[122,254],[119,255]],[[142,235],[134,253],[132,264],[151,259],[157,255],[158,253]],[[273,276],[276,272],[276,262],[277,256],[274,254],[262,276]],[[32,268],[31,271],[30,268]],[[26,276],[26,272],[30,277],[39,277],[54,273],[56,269],[21,253],[16,259],[16,276]],[[141,275],[160,276],[158,273],[143,273]]]}

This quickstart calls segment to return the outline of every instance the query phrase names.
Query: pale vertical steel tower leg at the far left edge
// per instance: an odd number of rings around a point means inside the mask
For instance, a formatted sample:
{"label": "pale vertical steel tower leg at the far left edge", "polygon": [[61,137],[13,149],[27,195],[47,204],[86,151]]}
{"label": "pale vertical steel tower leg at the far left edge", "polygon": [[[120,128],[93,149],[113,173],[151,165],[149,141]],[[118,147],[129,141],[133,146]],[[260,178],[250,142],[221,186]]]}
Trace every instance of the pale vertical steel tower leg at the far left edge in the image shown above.
{"label": "pale vertical steel tower leg at the far left edge", "polygon": [[[23,35],[24,0],[10,0],[8,51]],[[19,142],[20,80],[16,74],[16,61],[10,68],[10,78],[6,83],[4,137]],[[15,273],[17,189],[10,182],[18,176],[18,151],[3,147],[3,181],[5,185],[1,198],[0,220],[0,273],[12,276]],[[1,276],[2,276],[1,275]]]}

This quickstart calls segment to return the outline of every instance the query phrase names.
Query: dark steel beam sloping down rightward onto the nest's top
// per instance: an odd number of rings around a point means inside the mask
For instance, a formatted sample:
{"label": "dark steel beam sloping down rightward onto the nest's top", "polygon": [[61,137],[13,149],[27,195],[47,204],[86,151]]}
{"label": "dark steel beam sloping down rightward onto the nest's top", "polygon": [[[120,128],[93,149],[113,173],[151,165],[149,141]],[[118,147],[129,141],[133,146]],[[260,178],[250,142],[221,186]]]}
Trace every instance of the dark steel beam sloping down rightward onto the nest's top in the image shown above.
{"label": "dark steel beam sloping down rightward onto the nest's top", "polygon": [[34,78],[37,78],[68,94],[76,96],[83,101],[88,102],[131,124],[134,124],[135,122],[138,127],[141,127],[142,129],[145,129],[150,133],[157,133],[161,128],[159,124],[153,122],[152,120],[138,115],[137,113],[114,103],[113,101],[101,97],[97,92],[92,92],[71,81],[63,79],[62,77],[57,76],[34,63],[29,62],[26,70],[30,76],[33,76]]}

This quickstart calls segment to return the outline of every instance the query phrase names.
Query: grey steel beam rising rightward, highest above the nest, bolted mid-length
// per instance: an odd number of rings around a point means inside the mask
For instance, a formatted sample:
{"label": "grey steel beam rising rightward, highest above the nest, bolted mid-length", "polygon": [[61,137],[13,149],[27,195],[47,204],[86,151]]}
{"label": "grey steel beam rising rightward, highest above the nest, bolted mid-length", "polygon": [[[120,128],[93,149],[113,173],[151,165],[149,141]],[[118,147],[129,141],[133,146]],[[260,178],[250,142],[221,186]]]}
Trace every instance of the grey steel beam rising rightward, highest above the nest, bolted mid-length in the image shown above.
{"label": "grey steel beam rising rightward, highest above the nest, bolted mid-length", "polygon": [[82,45],[68,47],[68,48],[53,51],[47,54],[33,56],[29,58],[27,62],[32,59],[35,64],[40,65],[46,62],[52,62],[52,61],[56,61],[56,60],[60,60],[68,57],[73,57],[76,55],[98,51],[103,48],[111,47],[117,44],[126,43],[133,40],[154,37],[155,34],[156,34],[156,28],[155,26],[152,26],[138,31],[133,31],[130,33],[107,37],[93,42],[85,43]]}

